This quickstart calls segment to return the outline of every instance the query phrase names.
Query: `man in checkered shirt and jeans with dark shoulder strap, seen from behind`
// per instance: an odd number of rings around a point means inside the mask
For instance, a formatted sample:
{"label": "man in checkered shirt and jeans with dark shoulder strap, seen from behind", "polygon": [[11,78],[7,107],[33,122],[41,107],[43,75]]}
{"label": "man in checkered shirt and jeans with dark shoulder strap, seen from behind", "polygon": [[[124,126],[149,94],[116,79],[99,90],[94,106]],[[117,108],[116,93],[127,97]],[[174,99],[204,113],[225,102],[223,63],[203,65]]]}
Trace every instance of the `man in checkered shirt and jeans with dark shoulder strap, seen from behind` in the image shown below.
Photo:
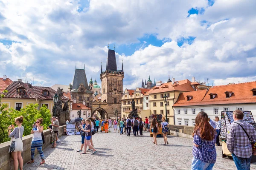
{"label": "man in checkered shirt and jeans with dark shoulder strap, seen from behind", "polygon": [[242,111],[233,111],[234,122],[227,128],[227,149],[232,154],[238,170],[250,170],[252,146],[244,130],[252,141],[256,141],[256,131],[253,125],[243,121],[243,118],[244,113]]}

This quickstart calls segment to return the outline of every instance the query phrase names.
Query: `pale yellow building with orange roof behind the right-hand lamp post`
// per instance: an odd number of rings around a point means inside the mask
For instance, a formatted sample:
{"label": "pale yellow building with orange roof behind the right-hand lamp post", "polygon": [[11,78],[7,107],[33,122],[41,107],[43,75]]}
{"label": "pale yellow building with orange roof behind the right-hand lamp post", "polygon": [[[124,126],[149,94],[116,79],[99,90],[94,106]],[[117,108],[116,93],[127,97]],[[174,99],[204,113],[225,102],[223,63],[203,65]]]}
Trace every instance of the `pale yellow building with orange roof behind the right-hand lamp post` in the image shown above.
{"label": "pale yellow building with orange roof behind the right-hand lamp post", "polygon": [[[144,95],[145,109],[150,110],[151,114],[162,114],[166,115],[169,120],[170,125],[174,125],[174,111],[172,105],[176,102],[179,94],[184,91],[195,91],[197,82],[190,82],[188,79],[180,81],[169,81],[161,85],[156,85],[151,91],[148,91]],[[168,96],[167,107],[165,108],[165,103],[163,96],[166,94]]]}

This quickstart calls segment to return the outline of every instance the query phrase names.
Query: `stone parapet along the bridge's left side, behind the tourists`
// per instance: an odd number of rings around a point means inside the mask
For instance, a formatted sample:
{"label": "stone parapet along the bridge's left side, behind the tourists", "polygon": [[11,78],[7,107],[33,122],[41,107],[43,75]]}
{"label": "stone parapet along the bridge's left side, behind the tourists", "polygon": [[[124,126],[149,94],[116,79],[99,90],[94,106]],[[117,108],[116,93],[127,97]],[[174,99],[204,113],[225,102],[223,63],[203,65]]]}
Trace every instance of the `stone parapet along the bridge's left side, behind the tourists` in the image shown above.
{"label": "stone parapet along the bridge's left side, behind the tourists", "polygon": [[[62,136],[64,131],[64,126],[59,127],[59,137]],[[49,146],[50,144],[50,130],[44,130],[44,139],[45,144],[43,144],[43,150]],[[22,152],[22,158],[24,164],[26,164],[27,161],[30,160],[30,148],[31,148],[31,141],[32,141],[33,135],[27,135],[22,137],[23,142],[23,152]],[[13,170],[13,161],[11,153],[8,153],[10,147],[10,142],[5,142],[0,144],[0,170]],[[35,154],[38,154],[38,151],[35,151]]]}

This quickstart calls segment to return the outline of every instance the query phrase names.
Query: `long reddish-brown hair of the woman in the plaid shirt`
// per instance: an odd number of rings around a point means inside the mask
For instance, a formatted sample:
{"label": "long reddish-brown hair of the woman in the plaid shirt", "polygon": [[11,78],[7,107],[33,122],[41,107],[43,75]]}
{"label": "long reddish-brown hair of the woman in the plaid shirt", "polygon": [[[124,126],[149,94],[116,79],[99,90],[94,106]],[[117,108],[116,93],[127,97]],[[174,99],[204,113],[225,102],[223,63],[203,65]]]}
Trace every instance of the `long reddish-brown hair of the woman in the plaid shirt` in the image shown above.
{"label": "long reddish-brown hair of the woman in the plaid shirt", "polygon": [[214,139],[216,131],[208,122],[208,115],[205,112],[199,112],[195,118],[195,128],[193,136],[196,134],[205,139],[211,141]]}

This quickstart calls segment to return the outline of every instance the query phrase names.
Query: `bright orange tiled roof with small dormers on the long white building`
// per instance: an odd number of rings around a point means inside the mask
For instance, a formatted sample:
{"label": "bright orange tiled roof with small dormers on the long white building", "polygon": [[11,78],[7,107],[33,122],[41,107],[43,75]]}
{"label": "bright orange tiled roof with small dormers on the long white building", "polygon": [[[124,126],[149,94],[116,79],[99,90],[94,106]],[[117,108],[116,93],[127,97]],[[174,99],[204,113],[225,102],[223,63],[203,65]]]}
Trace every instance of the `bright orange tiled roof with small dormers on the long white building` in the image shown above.
{"label": "bright orange tiled roof with small dormers on the long white building", "polygon": [[[253,96],[252,88],[256,88],[256,82],[214,86],[207,90],[181,93],[173,106],[256,103],[256,96]],[[233,92],[228,98],[226,98],[225,94],[227,91]],[[209,94],[217,95],[214,99],[210,99]],[[193,96],[189,101],[185,97],[188,95]]]}

